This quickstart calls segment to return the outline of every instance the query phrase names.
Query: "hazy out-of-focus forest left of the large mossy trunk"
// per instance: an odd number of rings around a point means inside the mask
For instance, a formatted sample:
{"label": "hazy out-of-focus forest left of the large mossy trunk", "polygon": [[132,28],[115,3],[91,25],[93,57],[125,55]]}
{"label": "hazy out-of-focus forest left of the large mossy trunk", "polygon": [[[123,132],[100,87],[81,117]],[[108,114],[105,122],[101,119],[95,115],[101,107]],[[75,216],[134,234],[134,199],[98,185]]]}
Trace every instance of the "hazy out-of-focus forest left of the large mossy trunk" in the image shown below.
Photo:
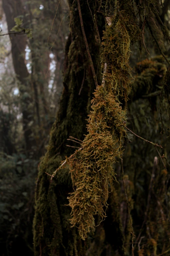
{"label": "hazy out-of-focus forest left of the large mossy trunk", "polygon": [[[66,2],[60,1],[58,8],[55,6],[55,1],[3,1],[6,16],[3,13],[0,20],[2,255],[33,255],[36,170],[63,89],[63,45],[68,36]],[[15,18],[22,20],[21,28],[32,29],[33,38],[11,34],[15,33],[10,31],[16,25]],[[10,36],[2,36],[8,33]]]}

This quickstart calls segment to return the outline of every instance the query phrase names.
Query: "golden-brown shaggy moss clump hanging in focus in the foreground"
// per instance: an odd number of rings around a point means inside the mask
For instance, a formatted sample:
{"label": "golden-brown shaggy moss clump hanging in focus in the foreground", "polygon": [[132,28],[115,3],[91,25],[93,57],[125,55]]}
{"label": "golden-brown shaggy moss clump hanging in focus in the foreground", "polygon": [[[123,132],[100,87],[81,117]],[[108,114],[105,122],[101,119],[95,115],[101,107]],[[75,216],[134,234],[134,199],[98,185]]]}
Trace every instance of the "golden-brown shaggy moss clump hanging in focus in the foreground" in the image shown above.
{"label": "golden-brown shaggy moss clump hanging in focus in the foreground", "polygon": [[108,186],[115,178],[113,163],[122,156],[126,111],[122,110],[118,96],[127,100],[130,92],[130,38],[126,22],[121,11],[106,27],[102,53],[103,67],[107,64],[105,85],[98,86],[94,93],[83,149],[67,159],[75,188],[68,198],[71,224],[78,225],[82,239],[94,229],[95,214],[99,213],[102,219],[106,217]]}

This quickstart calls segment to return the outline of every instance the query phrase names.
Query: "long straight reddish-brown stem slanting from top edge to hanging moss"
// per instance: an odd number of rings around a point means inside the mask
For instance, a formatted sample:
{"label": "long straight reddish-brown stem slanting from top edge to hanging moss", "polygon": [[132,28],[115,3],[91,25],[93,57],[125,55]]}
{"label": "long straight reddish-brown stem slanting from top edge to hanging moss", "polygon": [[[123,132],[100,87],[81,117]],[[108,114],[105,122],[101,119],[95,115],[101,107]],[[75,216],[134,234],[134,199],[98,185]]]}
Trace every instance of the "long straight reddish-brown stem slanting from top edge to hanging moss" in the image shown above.
{"label": "long straight reddish-brown stem slanting from top edge to hanging moss", "polygon": [[92,69],[94,83],[95,83],[95,86],[97,87],[98,86],[97,77],[96,77],[96,74],[95,74],[95,71],[94,71],[92,57],[91,57],[91,54],[90,54],[89,45],[88,45],[88,42],[87,42],[85,30],[84,30],[84,25],[83,25],[83,19],[82,19],[82,15],[81,15],[81,8],[80,8],[80,1],[79,0],[77,0],[77,4],[78,4],[78,13],[79,13],[79,17],[80,17],[80,24],[81,24],[81,29],[82,29],[82,33],[83,33],[84,43],[86,45],[87,55],[88,55],[88,58],[89,58],[91,69]]}

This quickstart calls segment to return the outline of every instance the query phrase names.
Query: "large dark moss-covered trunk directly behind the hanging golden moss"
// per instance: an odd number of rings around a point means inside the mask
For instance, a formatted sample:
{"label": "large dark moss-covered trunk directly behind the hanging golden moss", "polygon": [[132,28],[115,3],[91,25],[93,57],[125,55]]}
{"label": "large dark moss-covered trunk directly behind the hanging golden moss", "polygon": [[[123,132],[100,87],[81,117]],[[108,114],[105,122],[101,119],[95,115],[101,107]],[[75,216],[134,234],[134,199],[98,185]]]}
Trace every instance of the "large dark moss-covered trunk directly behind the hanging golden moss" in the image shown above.
{"label": "large dark moss-covered trunk directly behind the hanging golden moss", "polygon": [[[85,33],[97,73],[97,70],[100,70],[101,60],[100,45],[96,41],[92,20],[96,8],[95,2],[81,1],[80,4]],[[45,172],[52,174],[59,167],[61,160],[75,151],[75,148],[66,146],[69,136],[83,140],[92,93],[95,89],[82,36],[77,1],[69,1],[69,8],[71,32],[65,48],[64,90],[56,121],[51,130],[47,153],[39,166],[35,191],[33,226],[35,256],[110,255],[117,249],[121,255],[124,255],[124,238],[116,191],[110,194],[107,209],[109,214],[105,222],[96,228],[95,234],[90,233],[84,242],[80,239],[77,228],[71,228],[70,225],[71,208],[67,206],[67,197],[73,191],[73,187],[68,168],[60,170],[52,182],[45,174]],[[99,33],[102,35],[105,21],[101,14],[98,14],[97,21]],[[101,72],[97,74],[98,84],[101,84]],[[71,143],[69,145],[73,146]],[[96,224],[99,222],[100,218],[96,216]],[[110,227],[112,233],[116,234],[115,237],[108,236]]]}

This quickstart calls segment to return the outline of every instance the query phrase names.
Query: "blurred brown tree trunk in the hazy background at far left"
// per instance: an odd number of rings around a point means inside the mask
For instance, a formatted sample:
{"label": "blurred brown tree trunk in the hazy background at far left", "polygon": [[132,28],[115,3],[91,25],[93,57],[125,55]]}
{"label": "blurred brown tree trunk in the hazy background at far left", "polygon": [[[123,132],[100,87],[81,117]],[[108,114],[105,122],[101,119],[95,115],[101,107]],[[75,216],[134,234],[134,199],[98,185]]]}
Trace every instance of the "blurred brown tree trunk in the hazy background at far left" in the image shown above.
{"label": "blurred brown tree trunk in the hazy background at far left", "polygon": [[[3,0],[3,9],[6,14],[8,31],[15,26],[14,18],[18,15],[22,15],[23,8],[20,0]],[[33,140],[31,138],[31,127],[29,123],[33,120],[33,110],[31,109],[31,87],[29,83],[29,73],[25,65],[24,54],[26,48],[26,36],[25,35],[10,35],[11,51],[14,64],[14,70],[20,81],[19,91],[21,96],[21,112],[23,115],[23,131],[25,138],[26,150],[30,151],[33,146]]]}

